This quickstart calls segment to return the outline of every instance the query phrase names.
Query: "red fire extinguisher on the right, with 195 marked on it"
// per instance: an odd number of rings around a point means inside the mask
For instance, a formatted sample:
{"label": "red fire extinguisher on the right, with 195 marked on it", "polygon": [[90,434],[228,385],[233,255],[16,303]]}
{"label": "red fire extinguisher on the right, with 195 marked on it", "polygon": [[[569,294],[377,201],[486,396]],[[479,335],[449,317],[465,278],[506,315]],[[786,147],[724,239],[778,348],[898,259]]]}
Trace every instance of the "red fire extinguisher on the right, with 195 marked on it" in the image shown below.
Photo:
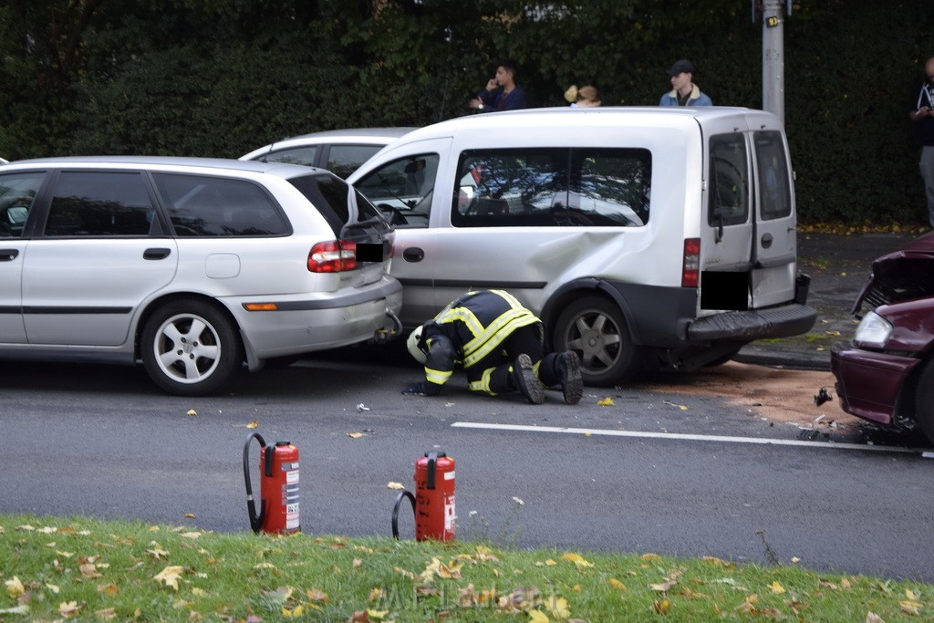
{"label": "red fire extinguisher on the right, with 195 marked on it", "polygon": [[392,536],[399,539],[399,506],[407,498],[415,513],[416,541],[453,541],[454,460],[444,452],[426,452],[415,463],[415,495],[401,491],[392,509]]}

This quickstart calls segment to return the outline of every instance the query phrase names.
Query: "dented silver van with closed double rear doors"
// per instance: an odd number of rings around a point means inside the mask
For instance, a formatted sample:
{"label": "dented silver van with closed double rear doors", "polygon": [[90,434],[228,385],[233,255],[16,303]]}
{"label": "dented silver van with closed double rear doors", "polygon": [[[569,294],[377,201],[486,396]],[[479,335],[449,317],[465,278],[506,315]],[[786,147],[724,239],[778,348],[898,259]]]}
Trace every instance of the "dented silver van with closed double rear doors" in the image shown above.
{"label": "dented silver van with closed double rear doors", "polygon": [[589,385],[808,331],[781,122],[745,108],[540,108],[448,120],[347,181],[395,224],[403,324],[513,292]]}

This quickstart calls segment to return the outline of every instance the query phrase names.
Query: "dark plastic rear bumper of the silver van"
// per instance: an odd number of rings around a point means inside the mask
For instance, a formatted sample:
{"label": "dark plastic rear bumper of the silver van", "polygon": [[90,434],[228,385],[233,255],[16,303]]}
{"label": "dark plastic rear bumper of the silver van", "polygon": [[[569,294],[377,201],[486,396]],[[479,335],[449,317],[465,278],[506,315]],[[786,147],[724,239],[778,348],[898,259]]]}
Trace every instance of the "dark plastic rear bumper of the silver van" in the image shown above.
{"label": "dark plastic rear bumper of the silver van", "polygon": [[802,304],[768,309],[728,311],[694,320],[687,326],[689,342],[712,340],[752,341],[807,333],[817,321],[817,311]]}

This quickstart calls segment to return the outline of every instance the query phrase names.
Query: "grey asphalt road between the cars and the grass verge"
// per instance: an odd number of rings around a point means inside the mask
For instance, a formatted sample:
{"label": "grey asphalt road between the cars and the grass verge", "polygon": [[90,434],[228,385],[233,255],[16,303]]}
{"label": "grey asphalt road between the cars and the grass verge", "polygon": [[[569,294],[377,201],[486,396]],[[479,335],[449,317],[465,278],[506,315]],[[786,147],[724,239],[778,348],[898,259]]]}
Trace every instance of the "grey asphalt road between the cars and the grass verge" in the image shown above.
{"label": "grey asphalt road between the cars and the grass verge", "polygon": [[[414,461],[440,449],[457,460],[461,539],[934,581],[934,460],[917,451],[800,441],[700,395],[687,410],[683,394],[630,389],[535,406],[459,379],[402,396],[418,375],[398,350],[351,349],[187,399],[132,368],[0,363],[0,512],[248,531],[241,459],[257,419],[267,441],[300,448],[309,535],[389,535],[388,483],[411,487]],[[414,531],[404,513],[401,529]]]}

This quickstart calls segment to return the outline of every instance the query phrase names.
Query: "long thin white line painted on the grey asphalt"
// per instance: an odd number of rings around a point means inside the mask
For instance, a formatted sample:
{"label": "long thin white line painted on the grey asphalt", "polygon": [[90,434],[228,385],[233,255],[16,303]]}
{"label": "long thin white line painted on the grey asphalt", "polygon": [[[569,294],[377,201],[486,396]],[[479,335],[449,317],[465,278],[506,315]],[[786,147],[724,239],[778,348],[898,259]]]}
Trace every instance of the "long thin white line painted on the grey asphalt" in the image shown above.
{"label": "long thin white line painted on the grey asphalt", "polygon": [[921,454],[917,447],[867,446],[864,444],[838,444],[835,442],[801,441],[799,439],[768,439],[765,437],[732,437],[729,435],[700,435],[682,432],[611,431],[606,429],[577,429],[559,426],[530,426],[527,424],[492,424],[488,422],[454,422],[451,428],[484,429],[488,431],[559,432],[576,435],[604,435],[608,437],[638,437],[643,439],[676,439],[679,441],[706,441],[758,446],[819,447],[827,450],[863,450],[867,452],[904,452]]}

